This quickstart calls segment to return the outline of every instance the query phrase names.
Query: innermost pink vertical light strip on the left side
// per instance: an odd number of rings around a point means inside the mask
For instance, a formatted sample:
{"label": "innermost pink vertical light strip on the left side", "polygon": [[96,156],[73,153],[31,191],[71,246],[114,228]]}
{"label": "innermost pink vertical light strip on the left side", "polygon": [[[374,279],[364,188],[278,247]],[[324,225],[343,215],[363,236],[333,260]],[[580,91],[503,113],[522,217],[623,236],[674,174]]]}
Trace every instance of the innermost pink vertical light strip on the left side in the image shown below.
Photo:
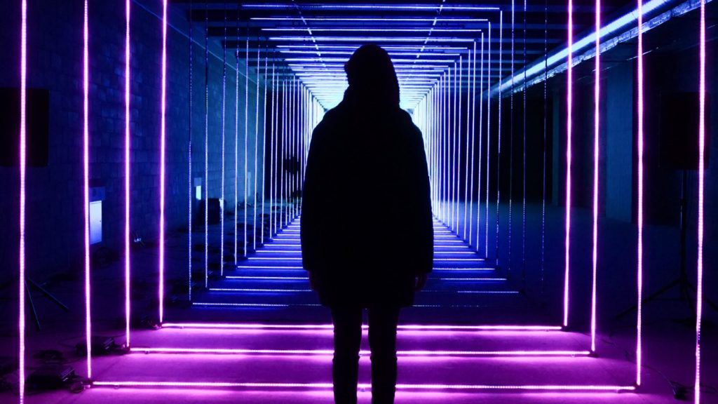
{"label": "innermost pink vertical light strip on the left side", "polygon": [[164,318],[164,150],[167,145],[167,0],[162,0],[162,99],[159,148],[159,323]]}

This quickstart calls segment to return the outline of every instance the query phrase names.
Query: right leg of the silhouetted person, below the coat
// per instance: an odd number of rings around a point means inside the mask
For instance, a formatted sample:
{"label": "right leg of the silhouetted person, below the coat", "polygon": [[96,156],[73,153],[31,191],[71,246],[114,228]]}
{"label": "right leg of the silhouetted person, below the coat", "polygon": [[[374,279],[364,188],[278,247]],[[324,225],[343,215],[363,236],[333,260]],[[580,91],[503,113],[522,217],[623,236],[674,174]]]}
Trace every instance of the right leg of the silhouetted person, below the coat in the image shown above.
{"label": "right leg of the silhouetted person, below the coat", "polygon": [[396,324],[398,308],[369,309],[371,402],[391,404],[396,391]]}

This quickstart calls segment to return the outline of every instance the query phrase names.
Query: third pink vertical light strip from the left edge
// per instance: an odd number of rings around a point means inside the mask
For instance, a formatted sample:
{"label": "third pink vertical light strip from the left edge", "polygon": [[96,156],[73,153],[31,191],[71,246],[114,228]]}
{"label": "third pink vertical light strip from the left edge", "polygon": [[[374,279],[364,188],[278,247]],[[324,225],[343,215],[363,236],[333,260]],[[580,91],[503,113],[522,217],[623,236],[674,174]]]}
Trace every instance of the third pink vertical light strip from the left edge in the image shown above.
{"label": "third pink vertical light strip from the left edge", "polygon": [[130,0],[125,0],[125,346],[130,346]]}

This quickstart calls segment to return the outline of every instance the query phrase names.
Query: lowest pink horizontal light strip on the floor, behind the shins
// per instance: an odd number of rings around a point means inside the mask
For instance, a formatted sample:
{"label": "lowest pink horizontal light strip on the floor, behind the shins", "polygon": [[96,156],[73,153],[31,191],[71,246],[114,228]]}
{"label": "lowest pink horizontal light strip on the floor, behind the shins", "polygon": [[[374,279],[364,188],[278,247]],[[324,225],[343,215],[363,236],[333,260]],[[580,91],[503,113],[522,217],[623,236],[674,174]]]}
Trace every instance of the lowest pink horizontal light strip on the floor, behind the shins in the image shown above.
{"label": "lowest pink horizontal light strip on the floor, behind the shins", "polygon": [[[331,389],[327,383],[236,383],[236,382],[93,382],[95,386],[111,387],[248,387],[248,388],[312,388]],[[371,385],[360,383],[360,389]],[[619,385],[409,385],[397,384],[397,390],[556,390],[556,391],[633,391],[635,386]]]}

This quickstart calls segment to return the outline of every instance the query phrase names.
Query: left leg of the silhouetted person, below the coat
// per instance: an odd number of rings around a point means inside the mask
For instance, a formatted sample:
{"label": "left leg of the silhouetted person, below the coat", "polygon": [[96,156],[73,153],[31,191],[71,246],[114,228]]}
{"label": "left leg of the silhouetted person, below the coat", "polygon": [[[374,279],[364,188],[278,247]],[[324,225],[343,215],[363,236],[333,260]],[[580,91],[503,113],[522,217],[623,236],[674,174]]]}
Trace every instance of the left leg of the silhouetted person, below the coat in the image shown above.
{"label": "left leg of the silhouetted person, below the coat", "polygon": [[334,321],[334,400],[337,404],[357,402],[359,348],[361,345],[361,308],[332,308]]}

